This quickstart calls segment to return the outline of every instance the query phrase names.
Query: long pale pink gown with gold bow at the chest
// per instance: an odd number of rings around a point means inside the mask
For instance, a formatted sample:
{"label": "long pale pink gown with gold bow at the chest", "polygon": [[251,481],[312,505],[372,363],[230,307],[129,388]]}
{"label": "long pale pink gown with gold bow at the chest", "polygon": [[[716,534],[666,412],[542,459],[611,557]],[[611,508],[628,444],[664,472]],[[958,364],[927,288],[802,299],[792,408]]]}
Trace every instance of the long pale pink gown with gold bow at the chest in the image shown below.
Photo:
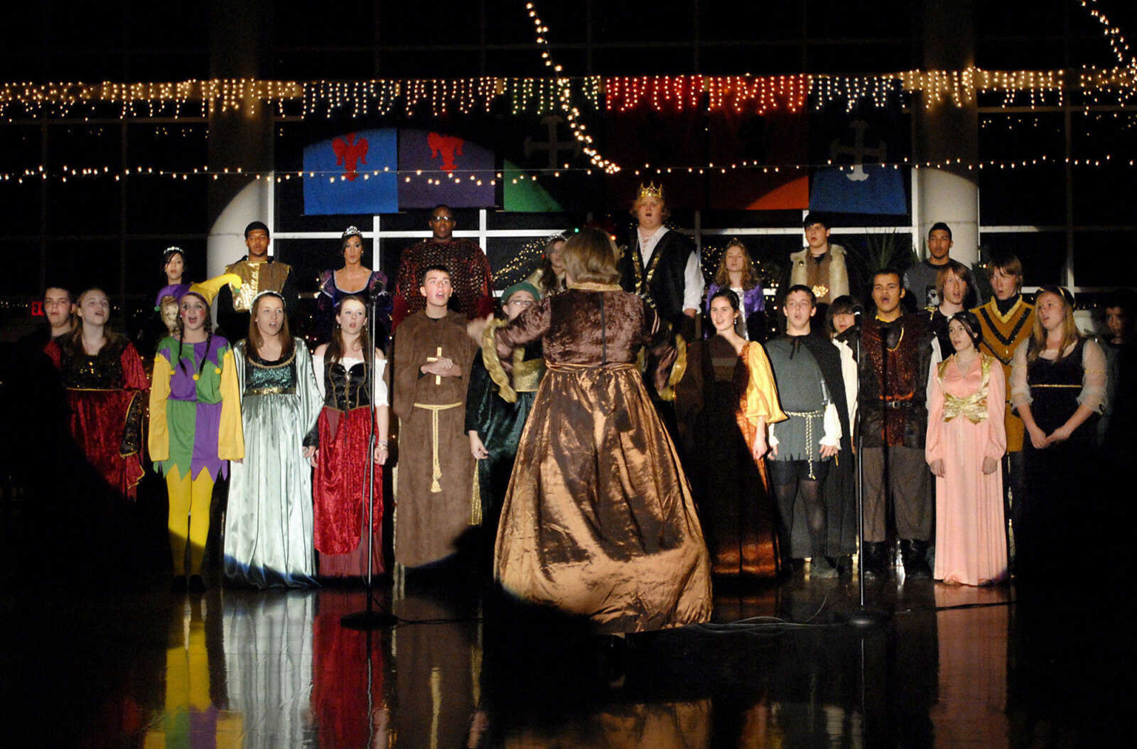
{"label": "long pale pink gown with gold bow at the chest", "polygon": [[1006,382],[994,358],[980,353],[966,374],[953,355],[936,366],[928,401],[928,463],[936,478],[936,580],[981,585],[1006,577],[1003,468],[984,475],[984,458],[1003,457]]}

